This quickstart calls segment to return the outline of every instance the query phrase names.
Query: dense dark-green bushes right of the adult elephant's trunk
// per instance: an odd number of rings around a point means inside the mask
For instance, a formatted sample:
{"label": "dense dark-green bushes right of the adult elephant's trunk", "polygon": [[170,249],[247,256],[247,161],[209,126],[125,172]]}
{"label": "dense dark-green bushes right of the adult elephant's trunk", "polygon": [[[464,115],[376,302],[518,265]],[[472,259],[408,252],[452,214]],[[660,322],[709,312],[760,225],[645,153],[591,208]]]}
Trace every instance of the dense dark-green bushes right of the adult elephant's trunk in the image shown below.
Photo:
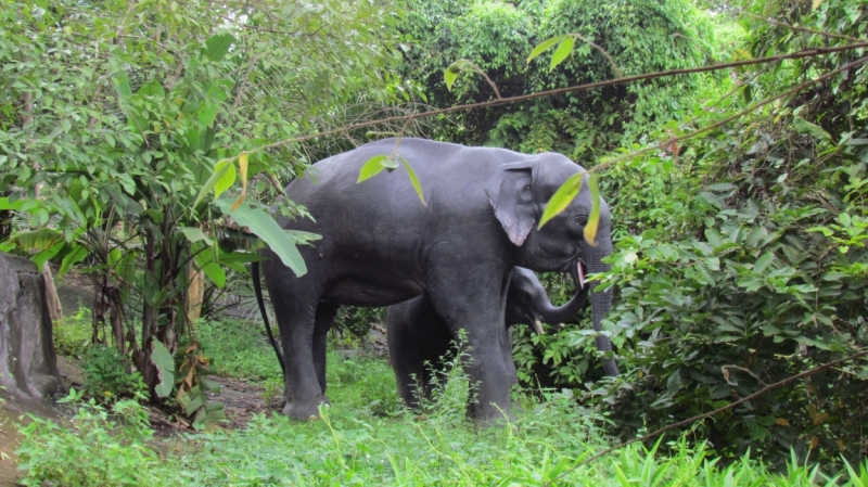
{"label": "dense dark-green bushes right of the adult elephant's trunk", "polygon": [[[752,12],[865,37],[861,2],[757,2]],[[762,56],[845,39],[742,17],[744,52]],[[735,91],[705,91],[658,140],[715,123],[858,57],[856,52],[732,71]],[[585,385],[592,332],[520,337],[529,383],[580,387],[624,437],[711,411],[868,345],[864,65],[701,139],[605,171],[617,292],[608,330],[625,376]],[[552,282],[561,294],[569,293]],[[525,333],[525,335],[528,335]],[[537,344],[533,347],[532,341]],[[540,350],[539,345],[545,349]],[[852,363],[777,389],[693,431],[725,454],[782,462],[864,458],[868,369]]]}

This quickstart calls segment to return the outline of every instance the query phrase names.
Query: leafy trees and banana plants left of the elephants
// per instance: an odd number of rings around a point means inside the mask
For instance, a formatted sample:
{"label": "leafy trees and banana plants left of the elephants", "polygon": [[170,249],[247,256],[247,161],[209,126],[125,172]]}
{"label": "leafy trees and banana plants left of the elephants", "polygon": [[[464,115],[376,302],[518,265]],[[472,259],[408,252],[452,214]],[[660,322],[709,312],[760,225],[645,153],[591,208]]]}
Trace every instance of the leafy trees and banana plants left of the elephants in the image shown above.
{"label": "leafy trees and banana plants left of the elephants", "polygon": [[[41,251],[35,260],[61,273],[87,265],[94,339],[131,355],[166,397],[202,273],[222,287],[255,258],[240,227],[304,272],[294,247],[304,238],[288,238],[256,200],[306,167],[306,148],[256,150],[328,127],[358,99],[392,99],[390,9],[2,2],[0,225],[10,233],[18,222],[3,249]],[[217,200],[237,172],[240,193]],[[165,367],[152,356],[162,350]]]}

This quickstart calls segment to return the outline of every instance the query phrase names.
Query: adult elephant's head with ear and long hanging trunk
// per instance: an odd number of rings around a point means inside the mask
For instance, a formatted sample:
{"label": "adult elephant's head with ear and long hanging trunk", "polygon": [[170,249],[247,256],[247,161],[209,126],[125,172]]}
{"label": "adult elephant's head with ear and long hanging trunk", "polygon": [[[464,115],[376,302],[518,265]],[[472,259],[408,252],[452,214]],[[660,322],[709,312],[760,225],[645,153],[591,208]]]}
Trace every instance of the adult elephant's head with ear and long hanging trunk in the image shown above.
{"label": "adult elephant's head with ear and long hanging trunk", "polygon": [[[584,286],[589,272],[607,272],[611,266],[602,258],[612,254],[609,205],[600,198],[600,220],[593,243],[585,240],[585,226],[591,210],[588,177],[578,195],[541,229],[538,222],[547,203],[570,177],[587,172],[561,154],[542,153],[526,161],[498,167],[485,192],[510,241],[516,247],[516,265],[537,271],[570,272]],[[591,293],[593,330],[602,330],[602,319],[612,307],[612,291]],[[608,336],[597,336],[600,351],[612,350]],[[607,375],[617,375],[614,360],[605,360]]]}

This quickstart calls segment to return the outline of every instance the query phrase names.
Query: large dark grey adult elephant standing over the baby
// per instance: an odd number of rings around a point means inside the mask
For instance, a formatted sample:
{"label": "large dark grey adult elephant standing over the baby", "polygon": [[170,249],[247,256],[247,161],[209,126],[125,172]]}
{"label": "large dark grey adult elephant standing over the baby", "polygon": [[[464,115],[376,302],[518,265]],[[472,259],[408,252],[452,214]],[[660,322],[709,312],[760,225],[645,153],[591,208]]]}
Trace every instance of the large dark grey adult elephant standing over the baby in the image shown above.
{"label": "large dark grey adult elephant standing over the baby", "polygon": [[[471,413],[484,420],[510,415],[501,343],[511,270],[566,272],[579,261],[590,272],[607,270],[600,259],[612,252],[609,208],[601,202],[597,246],[583,240],[591,207],[587,183],[538,229],[554,191],[584,169],[556,153],[421,139],[403,139],[397,156],[414,169],[426,205],[403,167],[357,183],[368,159],[395,150],[394,139],[365,144],[317,163],[312,178],[286,187],[286,196],[315,220],[281,217],[280,225],[322,239],[298,248],[308,267],[302,277],[263,251],[271,257],[261,267],[286,359],[283,413],[307,420],[326,402],[326,334],[340,304],[390,306],[427,294],[452,334],[467,332],[473,359],[467,370],[478,384]],[[595,293],[591,303],[600,330],[611,293]],[[604,336],[598,346],[611,349]],[[611,360],[604,367],[617,372]]]}

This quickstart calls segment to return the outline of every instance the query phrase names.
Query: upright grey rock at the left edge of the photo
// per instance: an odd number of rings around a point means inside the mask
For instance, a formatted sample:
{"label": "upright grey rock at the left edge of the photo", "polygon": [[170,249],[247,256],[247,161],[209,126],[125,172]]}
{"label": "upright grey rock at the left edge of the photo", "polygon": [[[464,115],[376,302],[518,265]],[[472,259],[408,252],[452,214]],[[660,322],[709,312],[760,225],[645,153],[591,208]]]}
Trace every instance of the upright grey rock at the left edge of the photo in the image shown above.
{"label": "upright grey rock at the left edge of the photo", "polygon": [[46,283],[34,262],[0,253],[0,386],[20,399],[63,390]]}

